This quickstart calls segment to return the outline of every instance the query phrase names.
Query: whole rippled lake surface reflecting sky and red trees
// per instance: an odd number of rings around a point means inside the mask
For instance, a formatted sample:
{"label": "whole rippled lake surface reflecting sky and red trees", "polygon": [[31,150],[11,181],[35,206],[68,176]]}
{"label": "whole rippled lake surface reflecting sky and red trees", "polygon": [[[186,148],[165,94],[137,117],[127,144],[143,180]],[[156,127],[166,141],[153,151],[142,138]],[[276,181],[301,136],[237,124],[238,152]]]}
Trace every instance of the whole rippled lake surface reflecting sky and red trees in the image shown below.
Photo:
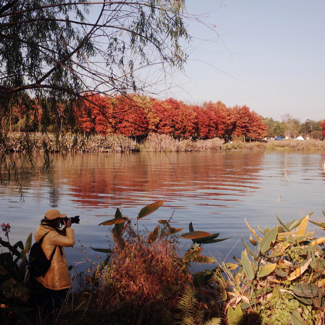
{"label": "whole rippled lake surface reflecting sky and red trees", "polygon": [[[116,207],[136,218],[140,208],[165,200],[154,214],[140,220],[149,230],[157,220],[169,218],[188,231],[220,232],[231,239],[205,248],[205,254],[225,257],[240,236],[249,237],[244,218],[257,231],[259,225],[276,224],[275,213],[284,221],[314,211],[322,218],[325,174],[324,151],[230,151],[189,153],[132,153],[58,155],[53,183],[36,169],[23,184],[25,203],[20,203],[16,185],[0,188],[2,222],[12,226],[11,241],[35,232],[45,211],[57,207],[68,216],[79,214],[75,225],[76,247],[67,249],[70,261],[85,258],[77,252],[84,247],[106,247],[110,227],[100,226]],[[285,178],[285,171],[290,183]],[[279,198],[280,196],[280,198]],[[143,227],[141,227],[143,229]],[[186,245],[182,241],[181,248]],[[241,243],[229,254],[239,256]],[[94,258],[87,249],[86,255]],[[220,257],[221,258],[221,257]]]}

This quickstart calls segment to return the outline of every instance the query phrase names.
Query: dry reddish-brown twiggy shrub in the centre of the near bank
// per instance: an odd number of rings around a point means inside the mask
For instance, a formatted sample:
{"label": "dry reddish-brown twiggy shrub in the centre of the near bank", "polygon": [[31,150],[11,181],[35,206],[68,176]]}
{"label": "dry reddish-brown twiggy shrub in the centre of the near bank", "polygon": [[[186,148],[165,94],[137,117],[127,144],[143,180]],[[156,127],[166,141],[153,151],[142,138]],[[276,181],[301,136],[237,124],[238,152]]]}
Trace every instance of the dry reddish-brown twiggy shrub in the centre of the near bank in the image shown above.
{"label": "dry reddish-brown twiggy shrub in the centre of the near bank", "polygon": [[[151,245],[125,242],[116,246],[110,264],[96,272],[101,281],[97,294],[99,309],[109,309],[121,303],[144,305],[165,298],[166,289],[182,289],[187,274],[177,263],[175,247],[167,241]],[[173,297],[165,301],[173,305]]]}

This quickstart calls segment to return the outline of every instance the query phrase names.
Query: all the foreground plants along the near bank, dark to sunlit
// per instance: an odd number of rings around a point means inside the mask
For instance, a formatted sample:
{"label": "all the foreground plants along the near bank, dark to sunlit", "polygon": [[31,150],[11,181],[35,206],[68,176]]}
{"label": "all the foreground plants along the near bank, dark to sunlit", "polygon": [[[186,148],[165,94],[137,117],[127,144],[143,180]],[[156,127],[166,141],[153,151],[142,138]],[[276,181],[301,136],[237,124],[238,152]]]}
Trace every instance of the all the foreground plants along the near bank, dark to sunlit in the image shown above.
{"label": "all the foreground plants along the near bank, dark to sunlit", "polygon": [[[142,208],[139,220],[163,201]],[[323,212],[324,213],[324,212]],[[204,245],[227,240],[219,233],[189,231],[159,220],[147,235],[140,235],[132,219],[117,209],[115,217],[100,224],[113,226],[112,248],[92,248],[106,254],[93,264],[78,289],[70,291],[61,309],[46,310],[36,299],[25,273],[32,234],[26,244],[9,242],[9,224],[2,224],[7,240],[0,244],[0,319],[3,324],[324,324],[325,237],[307,232],[310,223],[325,230],[325,223],[295,221],[242,239],[244,251],[234,263],[218,264],[202,254]],[[325,213],[324,213],[325,215]],[[145,220],[145,219],[142,219]],[[313,225],[313,227],[315,227]],[[181,234],[180,234],[181,233]],[[179,235],[180,234],[180,235]],[[179,240],[189,249],[179,256]],[[191,272],[193,263],[205,271]]]}

